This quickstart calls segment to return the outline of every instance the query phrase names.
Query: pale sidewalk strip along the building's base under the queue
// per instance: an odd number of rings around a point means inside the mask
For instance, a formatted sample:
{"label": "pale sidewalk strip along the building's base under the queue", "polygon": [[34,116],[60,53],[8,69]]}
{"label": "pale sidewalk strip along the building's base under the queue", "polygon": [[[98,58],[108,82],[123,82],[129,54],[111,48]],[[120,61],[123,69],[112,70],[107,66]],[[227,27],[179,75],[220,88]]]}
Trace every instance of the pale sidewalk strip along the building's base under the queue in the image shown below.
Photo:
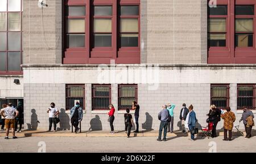
{"label": "pale sidewalk strip along the building's base under the queue", "polygon": [[[219,136],[223,136],[223,132],[217,132]],[[243,132],[245,135],[245,132]],[[255,131],[251,132],[252,136],[256,135]],[[10,133],[9,136],[12,134]],[[82,131],[81,133],[71,133],[71,131],[57,131],[57,132],[46,132],[46,131],[23,131],[15,133],[17,137],[126,137],[125,131],[117,131],[111,134],[109,131]],[[202,133],[200,134],[203,135]],[[0,137],[5,136],[5,131],[0,131]],[[158,137],[158,131],[141,131],[139,133],[130,134],[131,137]],[[182,133],[181,131],[175,131],[174,133],[167,133],[168,137],[172,136],[190,136],[190,133]],[[241,136],[241,133],[233,131],[232,136]]]}

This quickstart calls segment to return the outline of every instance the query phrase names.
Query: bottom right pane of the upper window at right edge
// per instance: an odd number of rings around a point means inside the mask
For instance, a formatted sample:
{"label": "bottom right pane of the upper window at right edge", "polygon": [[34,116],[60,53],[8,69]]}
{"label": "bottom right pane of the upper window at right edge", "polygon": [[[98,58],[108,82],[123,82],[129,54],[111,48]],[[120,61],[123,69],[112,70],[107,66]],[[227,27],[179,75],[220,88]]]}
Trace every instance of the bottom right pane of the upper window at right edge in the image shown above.
{"label": "bottom right pane of the upper window at right edge", "polygon": [[236,47],[253,47],[253,34],[236,33]]}

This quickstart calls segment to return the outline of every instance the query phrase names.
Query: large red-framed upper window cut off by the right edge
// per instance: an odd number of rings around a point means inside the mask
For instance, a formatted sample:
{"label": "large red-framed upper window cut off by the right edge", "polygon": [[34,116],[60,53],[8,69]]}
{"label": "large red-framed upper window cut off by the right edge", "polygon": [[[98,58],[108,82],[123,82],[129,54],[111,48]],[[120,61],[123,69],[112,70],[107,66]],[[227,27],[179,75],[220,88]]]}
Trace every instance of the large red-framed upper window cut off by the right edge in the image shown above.
{"label": "large red-framed upper window cut off by the right edge", "polygon": [[208,63],[255,64],[256,1],[216,2],[208,6]]}

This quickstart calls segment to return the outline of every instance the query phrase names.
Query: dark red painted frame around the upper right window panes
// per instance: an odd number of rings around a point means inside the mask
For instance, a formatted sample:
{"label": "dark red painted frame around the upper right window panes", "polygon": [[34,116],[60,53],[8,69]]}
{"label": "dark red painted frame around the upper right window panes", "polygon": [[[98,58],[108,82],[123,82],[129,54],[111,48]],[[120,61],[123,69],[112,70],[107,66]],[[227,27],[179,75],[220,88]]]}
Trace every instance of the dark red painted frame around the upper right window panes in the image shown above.
{"label": "dark red painted frame around the upper right window panes", "polygon": [[[209,2],[209,1],[208,1]],[[236,3],[236,4],[235,4]],[[255,64],[256,63],[256,1],[255,0],[218,0],[217,5],[228,5],[228,18],[226,30],[226,47],[209,47],[208,64]],[[254,15],[235,15],[236,5],[254,5]],[[223,18],[220,15],[208,15],[208,18]],[[253,18],[253,47],[235,47],[235,18]],[[243,32],[239,32],[243,33]]]}

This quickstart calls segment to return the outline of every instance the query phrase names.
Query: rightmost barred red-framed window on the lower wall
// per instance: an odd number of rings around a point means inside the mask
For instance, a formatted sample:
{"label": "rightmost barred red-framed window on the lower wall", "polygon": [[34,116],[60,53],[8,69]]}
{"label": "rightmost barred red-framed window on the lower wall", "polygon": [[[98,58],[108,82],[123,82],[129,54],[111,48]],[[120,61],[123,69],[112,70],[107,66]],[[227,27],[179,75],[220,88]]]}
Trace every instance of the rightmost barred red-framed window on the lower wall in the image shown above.
{"label": "rightmost barred red-framed window on the lower wall", "polygon": [[237,110],[242,110],[243,106],[256,110],[255,90],[255,85],[237,85]]}

